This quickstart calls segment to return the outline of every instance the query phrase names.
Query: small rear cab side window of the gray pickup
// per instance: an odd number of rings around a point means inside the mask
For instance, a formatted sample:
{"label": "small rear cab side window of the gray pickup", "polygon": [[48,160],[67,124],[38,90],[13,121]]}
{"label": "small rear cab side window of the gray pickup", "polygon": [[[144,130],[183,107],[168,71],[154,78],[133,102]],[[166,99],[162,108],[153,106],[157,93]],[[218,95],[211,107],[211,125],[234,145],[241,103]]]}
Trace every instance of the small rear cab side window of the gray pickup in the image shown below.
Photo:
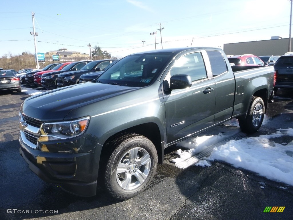
{"label": "small rear cab side window of the gray pickup", "polygon": [[207,51],[207,55],[209,57],[213,76],[218,76],[228,70],[226,61],[220,51],[210,50]]}

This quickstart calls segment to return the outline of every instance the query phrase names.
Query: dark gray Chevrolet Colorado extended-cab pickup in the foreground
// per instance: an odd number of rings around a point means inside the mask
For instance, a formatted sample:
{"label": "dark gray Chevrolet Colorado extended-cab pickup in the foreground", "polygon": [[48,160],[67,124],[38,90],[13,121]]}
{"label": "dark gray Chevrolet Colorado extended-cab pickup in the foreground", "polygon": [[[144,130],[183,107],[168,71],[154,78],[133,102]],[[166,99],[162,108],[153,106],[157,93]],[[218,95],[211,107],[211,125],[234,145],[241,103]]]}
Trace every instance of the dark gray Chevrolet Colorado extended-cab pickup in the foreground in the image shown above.
{"label": "dark gray Chevrolet Colorado extended-cab pickup in the foreground", "polygon": [[274,79],[274,67],[233,72],[219,48],[128,55],[92,82],[26,99],[20,154],[67,192],[93,196],[102,183],[128,199],[146,189],[168,146],[233,118],[258,131]]}

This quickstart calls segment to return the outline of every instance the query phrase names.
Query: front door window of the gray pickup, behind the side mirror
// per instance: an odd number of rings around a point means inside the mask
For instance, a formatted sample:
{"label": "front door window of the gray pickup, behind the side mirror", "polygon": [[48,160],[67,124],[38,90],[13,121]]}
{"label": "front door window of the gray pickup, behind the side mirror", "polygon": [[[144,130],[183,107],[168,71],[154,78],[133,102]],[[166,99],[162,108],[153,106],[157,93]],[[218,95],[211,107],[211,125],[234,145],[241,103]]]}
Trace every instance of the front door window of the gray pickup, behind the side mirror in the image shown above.
{"label": "front door window of the gray pickup, behind the side mirror", "polygon": [[207,78],[207,71],[202,59],[202,54],[199,52],[191,53],[176,60],[170,70],[170,75],[173,76],[178,74],[189,75],[191,81]]}

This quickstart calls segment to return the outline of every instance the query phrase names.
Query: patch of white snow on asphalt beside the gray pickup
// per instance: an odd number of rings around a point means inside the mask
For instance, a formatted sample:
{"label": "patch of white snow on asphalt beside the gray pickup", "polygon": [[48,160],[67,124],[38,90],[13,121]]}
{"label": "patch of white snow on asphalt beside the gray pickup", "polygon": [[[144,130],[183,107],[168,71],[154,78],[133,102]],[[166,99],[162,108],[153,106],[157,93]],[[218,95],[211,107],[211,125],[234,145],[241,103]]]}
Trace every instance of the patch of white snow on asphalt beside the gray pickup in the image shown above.
{"label": "patch of white snow on asphalt beside the gray pickup", "polygon": [[[177,150],[176,153],[179,156],[173,159],[173,163],[185,169],[192,165],[205,167],[212,166],[214,161],[224,161],[234,167],[281,182],[280,187],[284,187],[284,183],[285,187],[286,185],[293,186],[293,128],[280,128],[268,135],[227,141],[212,148],[208,157],[202,160],[191,160],[209,145],[217,144],[233,133],[240,133],[240,128],[234,126],[216,127],[216,129],[221,131],[217,135],[199,135],[180,142],[182,149]],[[289,143],[274,141],[274,138],[284,136],[291,137],[292,141]],[[261,184],[260,187],[265,188],[265,185]]]}

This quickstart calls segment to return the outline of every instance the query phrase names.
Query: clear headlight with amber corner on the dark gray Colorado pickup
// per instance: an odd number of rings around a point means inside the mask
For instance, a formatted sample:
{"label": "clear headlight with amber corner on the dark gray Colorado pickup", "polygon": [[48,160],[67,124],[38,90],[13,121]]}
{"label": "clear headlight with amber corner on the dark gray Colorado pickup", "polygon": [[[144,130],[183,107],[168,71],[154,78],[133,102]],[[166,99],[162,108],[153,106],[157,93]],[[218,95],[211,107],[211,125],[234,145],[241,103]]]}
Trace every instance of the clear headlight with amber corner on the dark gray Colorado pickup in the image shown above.
{"label": "clear headlight with amber corner on the dark gray Colorado pickup", "polygon": [[54,141],[81,135],[88,125],[90,117],[74,121],[48,122],[41,126],[39,141]]}

